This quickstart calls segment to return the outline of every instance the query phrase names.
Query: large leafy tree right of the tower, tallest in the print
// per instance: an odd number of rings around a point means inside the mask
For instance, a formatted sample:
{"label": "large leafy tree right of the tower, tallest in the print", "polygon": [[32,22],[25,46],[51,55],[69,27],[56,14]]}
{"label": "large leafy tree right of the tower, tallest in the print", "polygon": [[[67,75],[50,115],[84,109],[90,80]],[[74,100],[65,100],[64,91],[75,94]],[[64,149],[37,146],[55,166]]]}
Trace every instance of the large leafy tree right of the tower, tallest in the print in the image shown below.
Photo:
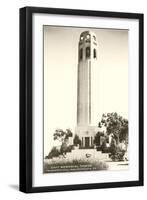
{"label": "large leafy tree right of the tower, tallest in the print", "polygon": [[116,112],[103,114],[98,126],[105,126],[108,135],[113,133],[117,143],[123,138],[125,138],[125,140],[128,138],[128,120],[118,115]]}

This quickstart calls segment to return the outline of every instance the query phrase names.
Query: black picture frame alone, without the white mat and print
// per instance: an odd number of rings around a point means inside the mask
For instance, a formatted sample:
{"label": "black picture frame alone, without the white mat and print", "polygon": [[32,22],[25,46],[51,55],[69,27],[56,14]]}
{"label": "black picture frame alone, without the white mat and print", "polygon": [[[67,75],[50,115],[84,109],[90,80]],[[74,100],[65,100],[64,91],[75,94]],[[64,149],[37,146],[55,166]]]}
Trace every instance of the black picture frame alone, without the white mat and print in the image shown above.
{"label": "black picture frame alone, without the white mat and print", "polygon": [[[139,21],[139,180],[79,185],[32,186],[32,16],[34,13],[137,19]],[[22,192],[53,192],[143,186],[143,14],[59,8],[20,8],[20,186]]]}

